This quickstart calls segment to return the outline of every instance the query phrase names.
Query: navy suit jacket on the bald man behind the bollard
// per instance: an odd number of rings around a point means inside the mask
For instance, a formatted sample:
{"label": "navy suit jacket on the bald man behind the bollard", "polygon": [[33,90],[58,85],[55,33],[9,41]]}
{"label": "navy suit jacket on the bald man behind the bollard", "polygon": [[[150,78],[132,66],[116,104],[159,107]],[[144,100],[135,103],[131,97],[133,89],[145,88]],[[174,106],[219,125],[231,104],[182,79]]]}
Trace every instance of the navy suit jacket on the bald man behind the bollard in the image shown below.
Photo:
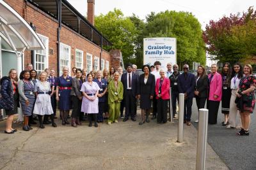
{"label": "navy suit jacket on the bald man behind the bollard", "polygon": [[185,76],[184,73],[180,74],[178,77],[178,89],[179,93],[187,93],[188,97],[194,97],[195,90],[195,75],[187,73]]}

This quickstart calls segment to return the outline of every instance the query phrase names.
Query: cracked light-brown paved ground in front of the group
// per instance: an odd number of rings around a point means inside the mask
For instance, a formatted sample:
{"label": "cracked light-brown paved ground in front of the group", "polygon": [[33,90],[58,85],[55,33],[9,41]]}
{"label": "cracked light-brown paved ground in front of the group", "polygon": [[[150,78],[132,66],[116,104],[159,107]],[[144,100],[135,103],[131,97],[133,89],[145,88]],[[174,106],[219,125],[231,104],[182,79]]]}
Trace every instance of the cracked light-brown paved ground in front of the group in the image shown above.
{"label": "cracked light-brown paved ground in front of the group", "polygon": [[[0,122],[3,131],[4,123]],[[177,143],[177,120],[163,125],[138,120],[77,128],[34,127],[12,135],[0,133],[0,169],[195,169],[195,127],[184,125]],[[207,145],[207,169],[228,169]]]}

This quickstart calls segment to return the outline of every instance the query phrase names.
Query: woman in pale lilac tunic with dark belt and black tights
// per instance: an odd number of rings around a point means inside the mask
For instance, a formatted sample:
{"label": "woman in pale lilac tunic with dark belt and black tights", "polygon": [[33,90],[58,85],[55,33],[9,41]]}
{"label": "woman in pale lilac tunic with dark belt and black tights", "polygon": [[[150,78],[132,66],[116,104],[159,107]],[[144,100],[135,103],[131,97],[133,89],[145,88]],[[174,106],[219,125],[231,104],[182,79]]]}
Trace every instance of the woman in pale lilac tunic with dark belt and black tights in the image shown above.
{"label": "woman in pale lilac tunic with dark belt and black tights", "polygon": [[87,81],[83,83],[81,92],[83,92],[83,101],[81,111],[88,114],[88,120],[90,122],[89,127],[92,127],[92,118],[94,119],[94,126],[98,127],[97,115],[99,113],[98,107],[98,94],[100,87],[92,81],[92,74],[87,75]]}

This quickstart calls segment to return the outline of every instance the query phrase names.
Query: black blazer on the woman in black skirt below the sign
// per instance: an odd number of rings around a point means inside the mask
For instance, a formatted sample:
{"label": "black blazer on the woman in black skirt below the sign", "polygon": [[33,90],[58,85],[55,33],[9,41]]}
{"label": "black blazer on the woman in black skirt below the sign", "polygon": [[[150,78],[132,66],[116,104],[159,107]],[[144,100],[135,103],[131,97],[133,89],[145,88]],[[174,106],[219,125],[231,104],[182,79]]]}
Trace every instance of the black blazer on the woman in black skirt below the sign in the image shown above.
{"label": "black blazer on the woman in black skirt below the sign", "polygon": [[138,83],[138,94],[150,94],[150,96],[154,96],[156,80],[153,74],[148,74],[147,83],[144,83],[145,74],[141,74],[139,77]]}

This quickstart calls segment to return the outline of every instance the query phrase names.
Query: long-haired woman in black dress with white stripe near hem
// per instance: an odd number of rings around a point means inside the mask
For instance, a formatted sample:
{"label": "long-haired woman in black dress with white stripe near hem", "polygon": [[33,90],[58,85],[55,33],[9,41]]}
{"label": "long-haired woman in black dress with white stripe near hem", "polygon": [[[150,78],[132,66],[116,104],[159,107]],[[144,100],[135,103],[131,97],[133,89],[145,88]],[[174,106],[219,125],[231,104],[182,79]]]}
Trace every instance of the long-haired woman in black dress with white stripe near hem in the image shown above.
{"label": "long-haired woman in black dress with white stripe near hem", "polygon": [[228,125],[228,114],[229,114],[229,106],[230,106],[230,98],[231,98],[231,71],[232,68],[229,62],[226,62],[223,65],[221,76],[222,76],[222,98],[221,98],[221,113],[224,114],[224,121],[222,122],[223,126]]}

